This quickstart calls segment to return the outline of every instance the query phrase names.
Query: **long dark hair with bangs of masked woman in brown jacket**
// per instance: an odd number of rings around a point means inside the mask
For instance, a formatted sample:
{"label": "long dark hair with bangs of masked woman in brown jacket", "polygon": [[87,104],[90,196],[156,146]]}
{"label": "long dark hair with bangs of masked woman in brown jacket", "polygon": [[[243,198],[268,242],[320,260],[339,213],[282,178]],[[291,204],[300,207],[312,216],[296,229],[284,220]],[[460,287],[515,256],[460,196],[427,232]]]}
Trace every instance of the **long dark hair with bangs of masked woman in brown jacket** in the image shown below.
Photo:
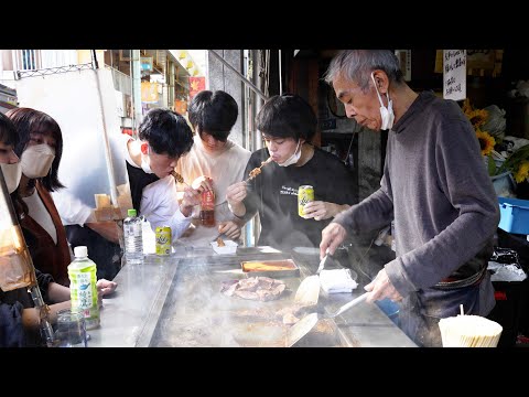
{"label": "long dark hair with bangs of masked woman in brown jacket", "polygon": [[51,135],[55,139],[55,159],[53,159],[52,169],[46,176],[39,178],[47,191],[54,192],[64,187],[58,181],[58,165],[63,155],[63,132],[55,119],[32,108],[15,108],[6,112],[19,133],[19,142],[14,147],[14,153],[20,158],[28,147],[31,133]]}

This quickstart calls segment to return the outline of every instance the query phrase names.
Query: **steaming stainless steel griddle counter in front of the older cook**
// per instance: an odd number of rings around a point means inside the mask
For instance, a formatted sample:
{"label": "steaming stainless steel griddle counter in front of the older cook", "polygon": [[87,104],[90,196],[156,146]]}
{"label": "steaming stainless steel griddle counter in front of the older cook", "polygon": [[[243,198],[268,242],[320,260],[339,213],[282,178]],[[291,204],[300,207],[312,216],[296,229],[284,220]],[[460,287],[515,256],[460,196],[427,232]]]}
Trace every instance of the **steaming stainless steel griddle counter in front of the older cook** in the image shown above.
{"label": "steaming stainless steel griddle counter in front of the older cook", "polygon": [[[300,277],[281,278],[290,292],[281,299],[260,302],[220,292],[223,281],[246,277],[242,260],[283,258],[294,259]],[[272,321],[273,313],[292,303],[299,283],[315,272],[317,261],[317,254],[270,247],[238,248],[236,255],[179,247],[170,257],[147,255],[144,264],[126,265],[115,278],[118,288],[104,299],[101,326],[88,331],[88,345],[280,346],[284,325]],[[361,293],[361,287],[353,293],[321,294],[317,311],[334,311]],[[328,337],[305,337],[299,345],[415,346],[374,303],[326,321],[332,325]]]}

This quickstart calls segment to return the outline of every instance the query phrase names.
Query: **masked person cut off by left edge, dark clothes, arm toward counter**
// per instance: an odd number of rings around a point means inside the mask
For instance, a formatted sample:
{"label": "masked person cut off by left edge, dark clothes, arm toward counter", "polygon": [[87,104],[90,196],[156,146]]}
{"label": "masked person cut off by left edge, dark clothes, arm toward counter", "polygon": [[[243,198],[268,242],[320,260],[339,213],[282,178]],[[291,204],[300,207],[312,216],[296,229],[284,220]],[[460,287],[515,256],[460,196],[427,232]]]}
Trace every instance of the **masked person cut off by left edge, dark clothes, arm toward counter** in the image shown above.
{"label": "masked person cut off by left edge, dark clothes, arm toward counter", "polygon": [[[22,176],[22,167],[19,157],[13,149],[19,142],[19,136],[12,121],[0,114],[0,168],[6,180],[8,192],[18,214],[24,214],[24,203],[17,192],[17,186]],[[19,218],[21,216],[19,215]],[[25,232],[25,230],[24,230]],[[31,238],[31,235],[24,233]],[[30,246],[39,245],[34,238],[28,242]],[[30,249],[34,265],[40,260]],[[71,307],[69,288],[56,283],[51,275],[35,268],[35,276],[44,302],[48,304],[48,319],[56,321],[58,310]],[[101,298],[112,292],[117,287],[114,281],[100,279],[97,281],[97,290]],[[0,290],[0,347],[21,347],[42,345],[39,333],[39,312],[33,309],[33,300],[26,288],[19,288],[3,292]]]}

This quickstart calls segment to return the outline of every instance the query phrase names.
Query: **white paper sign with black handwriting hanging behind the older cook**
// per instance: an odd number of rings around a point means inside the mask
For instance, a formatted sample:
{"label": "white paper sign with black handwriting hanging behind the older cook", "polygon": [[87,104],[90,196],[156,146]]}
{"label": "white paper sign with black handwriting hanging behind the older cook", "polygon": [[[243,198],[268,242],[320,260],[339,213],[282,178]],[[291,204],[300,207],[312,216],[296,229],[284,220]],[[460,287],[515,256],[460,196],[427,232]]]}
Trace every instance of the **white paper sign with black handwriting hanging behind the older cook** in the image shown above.
{"label": "white paper sign with black handwriting hanging behind the older cook", "polygon": [[443,98],[466,98],[466,50],[443,51]]}

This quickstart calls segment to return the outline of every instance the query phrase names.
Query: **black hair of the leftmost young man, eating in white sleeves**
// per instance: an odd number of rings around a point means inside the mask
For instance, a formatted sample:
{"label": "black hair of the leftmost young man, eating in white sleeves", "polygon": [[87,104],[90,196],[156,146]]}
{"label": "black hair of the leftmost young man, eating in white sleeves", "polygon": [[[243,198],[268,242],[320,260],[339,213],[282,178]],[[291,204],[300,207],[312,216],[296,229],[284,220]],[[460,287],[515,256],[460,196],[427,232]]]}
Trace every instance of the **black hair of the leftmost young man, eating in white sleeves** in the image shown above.
{"label": "black hair of the leftmost young man, eating in white sleeves", "polygon": [[149,110],[138,128],[141,140],[159,154],[171,158],[187,153],[193,147],[193,132],[185,118],[166,108]]}

